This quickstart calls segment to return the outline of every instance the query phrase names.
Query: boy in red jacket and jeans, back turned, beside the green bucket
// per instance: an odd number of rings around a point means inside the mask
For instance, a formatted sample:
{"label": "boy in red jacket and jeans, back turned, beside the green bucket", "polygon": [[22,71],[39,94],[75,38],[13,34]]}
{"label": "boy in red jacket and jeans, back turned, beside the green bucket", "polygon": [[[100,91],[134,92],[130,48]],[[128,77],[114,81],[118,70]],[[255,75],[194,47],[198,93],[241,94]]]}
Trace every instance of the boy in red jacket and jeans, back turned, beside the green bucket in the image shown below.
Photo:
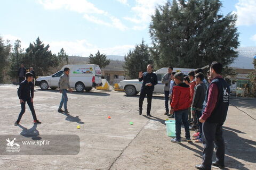
{"label": "boy in red jacket and jeans, back turned, beside the green bucket", "polygon": [[186,132],[186,140],[187,142],[191,142],[188,124],[188,108],[190,107],[190,87],[183,82],[183,78],[184,75],[181,72],[174,74],[174,82],[177,85],[173,87],[170,111],[170,113],[174,112],[175,116],[176,137],[171,140],[171,142],[174,143],[180,143],[180,129],[182,122],[184,124]]}

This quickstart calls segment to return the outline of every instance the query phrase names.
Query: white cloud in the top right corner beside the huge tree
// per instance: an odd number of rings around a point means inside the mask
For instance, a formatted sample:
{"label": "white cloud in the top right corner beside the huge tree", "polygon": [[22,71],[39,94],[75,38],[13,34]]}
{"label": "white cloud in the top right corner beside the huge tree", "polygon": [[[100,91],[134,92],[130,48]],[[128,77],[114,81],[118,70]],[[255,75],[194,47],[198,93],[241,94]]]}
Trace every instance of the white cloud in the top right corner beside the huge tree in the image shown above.
{"label": "white cloud in the top right corner beside the huge tree", "polygon": [[237,25],[256,24],[256,1],[239,0],[235,5],[237,14]]}

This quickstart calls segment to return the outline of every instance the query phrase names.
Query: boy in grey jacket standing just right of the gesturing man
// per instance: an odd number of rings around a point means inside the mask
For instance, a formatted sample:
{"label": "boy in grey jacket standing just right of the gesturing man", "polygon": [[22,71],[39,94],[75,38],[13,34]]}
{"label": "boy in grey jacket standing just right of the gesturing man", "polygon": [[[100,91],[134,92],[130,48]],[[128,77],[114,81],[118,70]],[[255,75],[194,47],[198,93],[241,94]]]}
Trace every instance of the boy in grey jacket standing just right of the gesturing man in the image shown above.
{"label": "boy in grey jacket standing just right of the gesturing man", "polygon": [[164,99],[165,99],[165,115],[169,114],[169,94],[170,94],[170,81],[173,67],[168,67],[168,72],[164,74],[162,83],[164,84]]}

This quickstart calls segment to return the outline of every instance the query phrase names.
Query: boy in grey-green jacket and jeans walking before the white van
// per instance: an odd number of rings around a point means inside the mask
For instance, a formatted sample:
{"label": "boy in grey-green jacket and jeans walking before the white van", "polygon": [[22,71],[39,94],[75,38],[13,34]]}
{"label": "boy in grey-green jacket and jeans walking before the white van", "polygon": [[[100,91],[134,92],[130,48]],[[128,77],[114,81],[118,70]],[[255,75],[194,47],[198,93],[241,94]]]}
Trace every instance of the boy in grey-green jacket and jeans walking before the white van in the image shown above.
{"label": "boy in grey-green jacket and jeans walking before the white van", "polygon": [[[59,113],[65,113],[68,114],[68,108],[67,108],[67,103],[68,103],[68,96],[67,96],[67,89],[69,89],[70,92],[72,92],[72,89],[69,86],[69,68],[64,69],[64,74],[61,75],[60,80],[59,80],[59,90],[60,93],[62,94],[61,101],[60,101],[60,106],[58,109]],[[63,111],[61,108],[64,104],[64,109]]]}

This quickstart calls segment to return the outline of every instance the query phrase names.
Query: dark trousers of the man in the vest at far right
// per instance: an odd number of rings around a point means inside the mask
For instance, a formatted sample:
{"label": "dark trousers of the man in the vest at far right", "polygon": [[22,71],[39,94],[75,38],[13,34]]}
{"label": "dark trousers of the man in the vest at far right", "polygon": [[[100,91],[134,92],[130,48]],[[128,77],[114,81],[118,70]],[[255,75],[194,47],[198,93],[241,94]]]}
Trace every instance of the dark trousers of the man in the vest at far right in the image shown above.
{"label": "dark trousers of the man in the vest at far right", "polygon": [[211,169],[214,144],[216,150],[216,162],[221,166],[225,166],[225,143],[222,137],[222,124],[210,122],[203,123],[203,144],[203,167],[205,169]]}

